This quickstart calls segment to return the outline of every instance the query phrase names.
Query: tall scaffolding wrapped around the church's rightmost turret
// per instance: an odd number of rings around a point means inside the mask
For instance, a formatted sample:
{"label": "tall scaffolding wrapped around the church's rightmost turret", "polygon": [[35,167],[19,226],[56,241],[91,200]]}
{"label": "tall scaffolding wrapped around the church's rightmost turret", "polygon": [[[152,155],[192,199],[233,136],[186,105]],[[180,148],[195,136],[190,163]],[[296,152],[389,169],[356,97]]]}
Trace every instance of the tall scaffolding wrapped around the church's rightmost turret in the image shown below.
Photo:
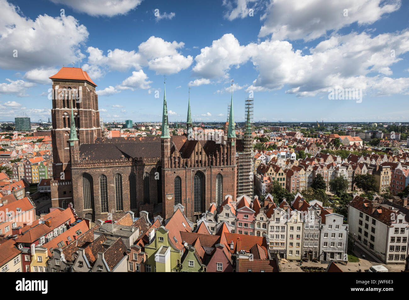
{"label": "tall scaffolding wrapped around the church's rightmost turret", "polygon": [[254,98],[245,99],[243,149],[237,153],[237,194],[254,197],[253,107]]}

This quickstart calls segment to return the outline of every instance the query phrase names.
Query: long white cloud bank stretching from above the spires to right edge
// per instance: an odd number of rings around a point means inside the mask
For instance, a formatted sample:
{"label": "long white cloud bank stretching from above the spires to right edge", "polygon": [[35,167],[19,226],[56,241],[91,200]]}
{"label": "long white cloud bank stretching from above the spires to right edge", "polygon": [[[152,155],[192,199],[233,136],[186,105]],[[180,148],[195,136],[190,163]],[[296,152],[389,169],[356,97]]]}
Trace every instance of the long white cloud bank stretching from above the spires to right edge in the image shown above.
{"label": "long white cloud bank stretching from above the spires to right edge", "polygon": [[[391,49],[395,56],[391,56]],[[225,34],[211,47],[202,49],[193,71],[204,79],[226,78],[231,67],[251,61],[258,76],[246,91],[270,91],[287,85],[287,93],[301,97],[328,92],[330,87],[363,88],[373,93],[385,87],[382,93],[406,93],[407,78],[387,76],[392,75],[391,65],[402,60],[402,54],[408,51],[409,30],[378,36],[366,32],[343,36],[335,33],[310,48],[309,54],[293,49],[288,41],[240,45],[232,34]]]}

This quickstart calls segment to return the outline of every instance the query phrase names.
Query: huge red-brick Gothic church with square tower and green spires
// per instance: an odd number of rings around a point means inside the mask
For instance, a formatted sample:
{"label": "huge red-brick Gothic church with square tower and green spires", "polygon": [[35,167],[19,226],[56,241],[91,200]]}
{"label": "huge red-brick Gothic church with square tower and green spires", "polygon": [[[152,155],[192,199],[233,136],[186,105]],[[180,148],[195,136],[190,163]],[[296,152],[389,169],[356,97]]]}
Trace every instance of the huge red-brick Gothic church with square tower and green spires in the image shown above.
{"label": "huge red-brick Gothic church with square tower and green spires", "polygon": [[219,206],[227,194],[236,198],[232,98],[228,133],[219,143],[189,134],[190,100],[187,133],[170,136],[166,89],[160,137],[104,138],[97,85],[87,72],[63,67],[50,79],[53,91],[63,91],[52,97],[53,207],[72,203],[79,217],[93,221],[130,210],[155,211],[166,219],[180,203],[196,222],[211,202]]}

